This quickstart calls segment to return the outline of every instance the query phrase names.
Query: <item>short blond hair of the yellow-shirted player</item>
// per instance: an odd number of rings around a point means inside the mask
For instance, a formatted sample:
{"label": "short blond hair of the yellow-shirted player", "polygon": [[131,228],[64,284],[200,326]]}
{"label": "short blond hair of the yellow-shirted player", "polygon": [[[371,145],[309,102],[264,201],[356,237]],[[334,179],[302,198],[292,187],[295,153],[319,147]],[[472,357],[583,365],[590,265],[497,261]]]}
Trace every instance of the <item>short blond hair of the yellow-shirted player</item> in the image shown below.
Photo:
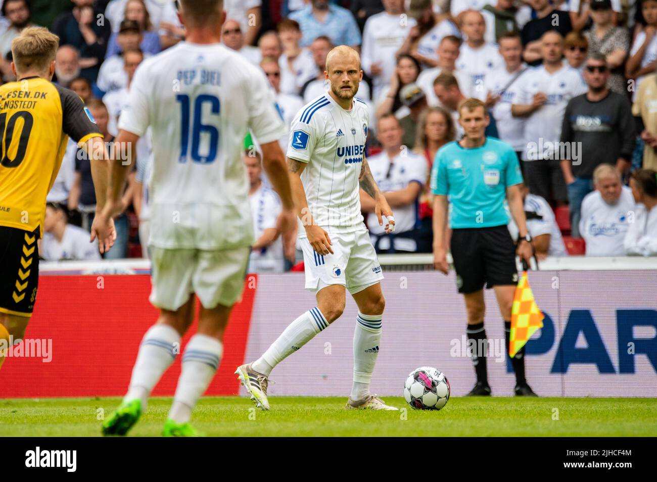
{"label": "short blond hair of the yellow-shirted player", "polygon": [[43,27],[30,27],[20,32],[11,43],[16,72],[48,72],[59,48],[59,37]]}

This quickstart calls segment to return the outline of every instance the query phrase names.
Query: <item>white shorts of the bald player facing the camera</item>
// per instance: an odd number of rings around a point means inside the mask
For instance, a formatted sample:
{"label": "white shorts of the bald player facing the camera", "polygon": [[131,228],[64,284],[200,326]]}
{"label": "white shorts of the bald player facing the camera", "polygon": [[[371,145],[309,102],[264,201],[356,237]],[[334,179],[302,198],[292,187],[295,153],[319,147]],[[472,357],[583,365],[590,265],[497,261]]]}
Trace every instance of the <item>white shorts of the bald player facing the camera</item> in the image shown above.
{"label": "white shorts of the bald player facing the camera", "polygon": [[318,254],[307,238],[300,240],[304,252],[306,290],[317,292],[342,284],[351,294],[365,290],[383,279],[367,229],[329,234],[333,254]]}

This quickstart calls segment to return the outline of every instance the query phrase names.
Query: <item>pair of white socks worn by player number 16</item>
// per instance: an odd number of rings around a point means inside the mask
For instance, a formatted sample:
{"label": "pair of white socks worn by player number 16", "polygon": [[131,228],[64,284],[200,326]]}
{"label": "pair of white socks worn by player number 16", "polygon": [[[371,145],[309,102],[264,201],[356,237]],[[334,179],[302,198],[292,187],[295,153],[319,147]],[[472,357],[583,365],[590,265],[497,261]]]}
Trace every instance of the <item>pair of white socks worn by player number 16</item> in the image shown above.
{"label": "pair of white socks worn by player number 16", "polygon": [[[166,324],[152,326],[139,347],[124,401],[140,399],[145,411],[150,392],[175,359],[179,348],[180,335],[175,329]],[[189,340],[183,353],[183,370],[169,418],[179,424],[189,422],[196,402],[217,372],[222,352],[223,345],[216,338],[196,334]]]}

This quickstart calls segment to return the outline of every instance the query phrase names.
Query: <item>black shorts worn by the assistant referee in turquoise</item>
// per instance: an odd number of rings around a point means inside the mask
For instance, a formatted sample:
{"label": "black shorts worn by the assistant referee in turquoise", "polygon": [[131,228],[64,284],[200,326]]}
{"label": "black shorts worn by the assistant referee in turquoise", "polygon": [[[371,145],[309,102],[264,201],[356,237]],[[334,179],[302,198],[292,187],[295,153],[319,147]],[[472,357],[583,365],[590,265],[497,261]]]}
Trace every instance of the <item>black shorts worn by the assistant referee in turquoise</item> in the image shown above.
{"label": "black shorts worn by the assistant referee in turquoise", "polygon": [[450,245],[459,293],[518,284],[516,246],[506,225],[453,229]]}

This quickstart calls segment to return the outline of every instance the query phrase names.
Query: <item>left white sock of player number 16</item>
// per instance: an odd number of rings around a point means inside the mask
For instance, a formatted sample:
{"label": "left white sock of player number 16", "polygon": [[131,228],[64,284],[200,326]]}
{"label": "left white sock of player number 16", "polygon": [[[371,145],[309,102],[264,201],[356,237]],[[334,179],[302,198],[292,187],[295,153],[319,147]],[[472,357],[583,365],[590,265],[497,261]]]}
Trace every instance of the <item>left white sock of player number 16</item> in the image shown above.
{"label": "left white sock of player number 16", "polygon": [[148,395],[179,349],[180,335],[174,328],[166,324],[151,326],[141,341],[124,402],[140,399],[141,409],[145,411]]}

